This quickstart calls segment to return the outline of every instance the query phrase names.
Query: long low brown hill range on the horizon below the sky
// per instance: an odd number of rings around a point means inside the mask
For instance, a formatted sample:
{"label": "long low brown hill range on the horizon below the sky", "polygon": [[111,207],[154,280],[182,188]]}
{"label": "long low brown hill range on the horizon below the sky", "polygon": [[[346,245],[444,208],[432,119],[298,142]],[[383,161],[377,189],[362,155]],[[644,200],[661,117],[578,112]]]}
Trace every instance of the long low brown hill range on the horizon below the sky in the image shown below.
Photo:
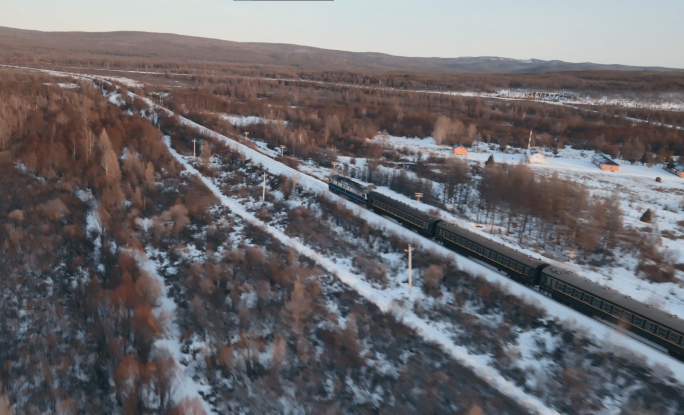
{"label": "long low brown hill range on the horizon below the sky", "polygon": [[499,57],[415,58],[279,43],[231,42],[169,33],[40,32],[0,27],[2,56],[88,55],[116,59],[180,60],[274,65],[315,70],[382,70],[446,73],[530,73],[586,70],[668,71],[661,67],[571,63]]}

